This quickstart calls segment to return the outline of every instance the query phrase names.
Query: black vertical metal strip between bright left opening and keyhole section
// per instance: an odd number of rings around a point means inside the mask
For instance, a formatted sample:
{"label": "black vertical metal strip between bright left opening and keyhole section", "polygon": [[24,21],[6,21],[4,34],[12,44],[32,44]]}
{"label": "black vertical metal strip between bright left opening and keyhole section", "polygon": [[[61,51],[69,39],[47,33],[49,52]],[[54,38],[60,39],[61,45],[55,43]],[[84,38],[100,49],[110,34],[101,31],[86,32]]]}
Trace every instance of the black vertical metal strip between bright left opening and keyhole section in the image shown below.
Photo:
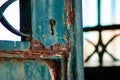
{"label": "black vertical metal strip between bright left opening and keyhole section", "polygon": [[[31,27],[31,0],[20,1],[20,31],[24,34],[32,34]],[[22,36],[21,40],[26,41],[27,37]]]}

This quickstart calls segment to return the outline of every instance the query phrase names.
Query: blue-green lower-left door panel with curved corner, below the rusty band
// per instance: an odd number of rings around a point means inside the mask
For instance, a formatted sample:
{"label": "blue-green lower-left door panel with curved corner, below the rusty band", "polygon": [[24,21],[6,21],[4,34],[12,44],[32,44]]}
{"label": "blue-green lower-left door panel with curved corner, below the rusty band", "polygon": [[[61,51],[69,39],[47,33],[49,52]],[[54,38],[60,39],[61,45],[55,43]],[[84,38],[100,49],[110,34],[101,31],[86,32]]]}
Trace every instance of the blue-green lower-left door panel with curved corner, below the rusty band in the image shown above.
{"label": "blue-green lower-left door panel with curved corner, below the rusty band", "polygon": [[9,59],[0,61],[0,80],[51,80],[51,77],[42,61]]}

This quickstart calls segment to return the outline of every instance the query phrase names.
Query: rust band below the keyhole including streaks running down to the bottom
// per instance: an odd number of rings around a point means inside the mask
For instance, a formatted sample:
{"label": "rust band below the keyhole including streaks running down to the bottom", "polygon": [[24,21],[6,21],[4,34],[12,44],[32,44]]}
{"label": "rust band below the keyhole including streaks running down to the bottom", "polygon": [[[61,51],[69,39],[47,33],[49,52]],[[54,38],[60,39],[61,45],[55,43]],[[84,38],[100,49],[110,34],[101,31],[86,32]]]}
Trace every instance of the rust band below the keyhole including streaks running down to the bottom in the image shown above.
{"label": "rust band below the keyhole including streaks running down to the bottom", "polygon": [[[60,56],[61,58],[65,59],[65,80],[67,80],[67,63],[69,58],[70,52],[70,39],[69,36],[66,35],[66,44],[59,44],[56,43],[51,45],[50,47],[46,48],[42,42],[39,42],[35,39],[29,39],[30,47],[29,50],[25,51],[0,51],[0,59],[7,58],[14,58],[17,61],[23,62],[25,60],[36,60],[39,58],[46,58],[49,56]],[[6,58],[5,58],[6,59]],[[61,80],[61,62],[57,60],[44,60],[47,64],[52,80]]]}

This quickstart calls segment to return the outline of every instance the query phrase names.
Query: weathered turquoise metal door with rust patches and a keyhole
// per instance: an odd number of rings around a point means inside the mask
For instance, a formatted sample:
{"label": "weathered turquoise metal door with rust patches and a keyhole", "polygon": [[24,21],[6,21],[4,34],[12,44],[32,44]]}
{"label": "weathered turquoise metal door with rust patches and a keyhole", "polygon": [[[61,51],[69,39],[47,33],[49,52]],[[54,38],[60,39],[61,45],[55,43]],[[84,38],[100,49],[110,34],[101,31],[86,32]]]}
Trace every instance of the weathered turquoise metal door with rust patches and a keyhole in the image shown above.
{"label": "weathered turquoise metal door with rust patches and a keyhole", "polygon": [[28,1],[21,23],[30,21],[30,34],[28,26],[16,31],[0,7],[1,23],[26,40],[0,41],[0,80],[84,80],[81,0]]}

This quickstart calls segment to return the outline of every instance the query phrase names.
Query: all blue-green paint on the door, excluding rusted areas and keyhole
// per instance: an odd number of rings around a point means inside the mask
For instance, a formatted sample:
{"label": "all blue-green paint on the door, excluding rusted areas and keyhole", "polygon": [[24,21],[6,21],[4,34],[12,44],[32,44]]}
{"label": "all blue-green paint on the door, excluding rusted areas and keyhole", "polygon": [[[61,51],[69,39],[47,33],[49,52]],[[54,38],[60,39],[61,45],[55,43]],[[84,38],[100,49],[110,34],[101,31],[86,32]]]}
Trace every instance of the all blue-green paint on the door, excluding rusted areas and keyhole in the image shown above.
{"label": "all blue-green paint on the door, excluding rusted areas and keyhole", "polygon": [[[70,2],[70,0],[68,1]],[[83,70],[83,37],[82,37],[82,0],[74,0],[75,23],[69,27],[66,23],[65,0],[31,0],[32,37],[46,47],[55,43],[66,44],[65,36],[70,37],[70,57],[68,60],[68,80],[84,80]],[[69,3],[69,5],[71,5]],[[54,35],[51,34],[50,20],[56,20]],[[6,46],[5,46],[6,45]],[[28,50],[29,42],[0,41],[0,50]],[[64,57],[48,56],[39,60],[17,61],[22,55],[0,56],[0,80],[51,80],[49,66],[44,60],[59,60],[62,76],[65,80]],[[16,59],[15,59],[16,58]]]}

